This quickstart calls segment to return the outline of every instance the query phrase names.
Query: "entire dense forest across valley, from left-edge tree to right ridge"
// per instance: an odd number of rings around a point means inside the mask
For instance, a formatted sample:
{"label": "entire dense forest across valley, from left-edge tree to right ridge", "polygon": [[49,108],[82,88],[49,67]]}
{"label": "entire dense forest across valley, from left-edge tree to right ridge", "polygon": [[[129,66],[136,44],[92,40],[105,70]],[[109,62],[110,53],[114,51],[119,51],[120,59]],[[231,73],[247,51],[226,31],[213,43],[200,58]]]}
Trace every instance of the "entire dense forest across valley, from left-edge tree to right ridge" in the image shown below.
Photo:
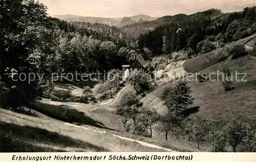
{"label": "entire dense forest across valley, from left-edge tree to right ridge", "polygon": [[109,71],[132,63],[140,54],[148,60],[180,50],[189,58],[213,50],[209,41],[238,40],[256,27],[256,7],[229,14],[212,9],[141,22],[157,22],[158,27],[138,38],[114,26],[52,18],[47,7],[34,0],[1,1],[0,11],[1,103],[14,108],[34,100],[39,83],[37,76],[33,81],[28,77],[13,81],[13,73],[50,77],[52,73]]}

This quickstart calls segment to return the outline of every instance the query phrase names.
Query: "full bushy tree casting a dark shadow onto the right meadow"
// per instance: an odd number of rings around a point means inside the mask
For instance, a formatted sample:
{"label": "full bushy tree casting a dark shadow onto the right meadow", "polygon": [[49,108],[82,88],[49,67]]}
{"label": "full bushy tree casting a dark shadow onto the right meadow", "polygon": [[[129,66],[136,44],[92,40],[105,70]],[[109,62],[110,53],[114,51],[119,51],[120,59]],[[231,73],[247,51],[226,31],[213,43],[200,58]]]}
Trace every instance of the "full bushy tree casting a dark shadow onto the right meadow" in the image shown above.
{"label": "full bushy tree casting a dark shadow onto the right meadow", "polygon": [[193,104],[193,99],[190,96],[190,87],[184,81],[179,81],[175,87],[165,89],[165,104],[168,111],[182,112],[187,109],[189,105]]}

